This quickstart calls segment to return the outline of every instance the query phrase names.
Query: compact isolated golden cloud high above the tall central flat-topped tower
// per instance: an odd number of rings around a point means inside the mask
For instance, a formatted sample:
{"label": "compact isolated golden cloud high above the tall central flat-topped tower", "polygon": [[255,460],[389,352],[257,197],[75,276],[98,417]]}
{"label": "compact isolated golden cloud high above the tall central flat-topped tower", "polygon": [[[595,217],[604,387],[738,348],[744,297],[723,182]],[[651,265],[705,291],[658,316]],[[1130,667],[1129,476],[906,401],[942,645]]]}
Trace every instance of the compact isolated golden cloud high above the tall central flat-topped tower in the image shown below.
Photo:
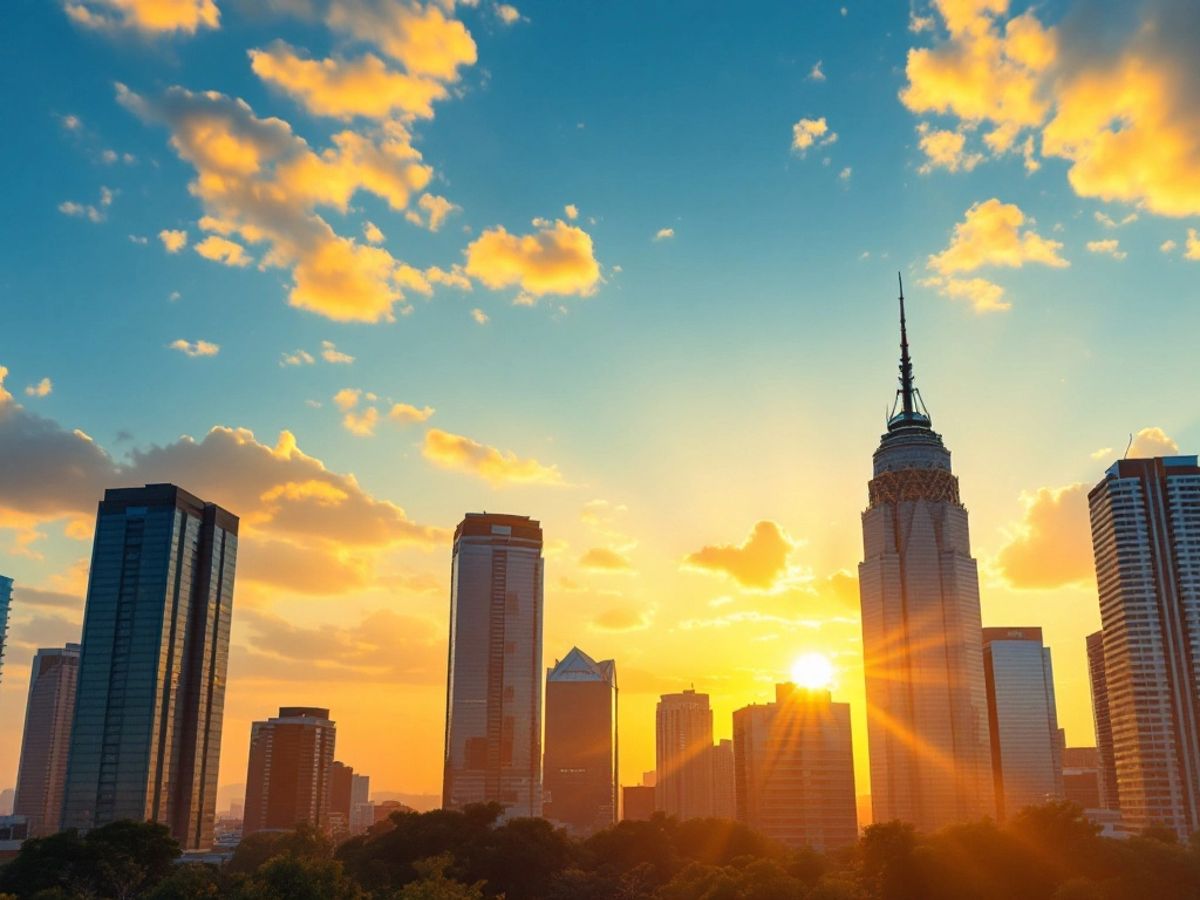
{"label": "compact isolated golden cloud high above the tall central flat-topped tower", "polygon": [[503,226],[490,228],[467,247],[464,269],[493,290],[515,286],[534,298],[587,296],[600,282],[590,235],[563,220],[542,222],[535,234],[509,234]]}

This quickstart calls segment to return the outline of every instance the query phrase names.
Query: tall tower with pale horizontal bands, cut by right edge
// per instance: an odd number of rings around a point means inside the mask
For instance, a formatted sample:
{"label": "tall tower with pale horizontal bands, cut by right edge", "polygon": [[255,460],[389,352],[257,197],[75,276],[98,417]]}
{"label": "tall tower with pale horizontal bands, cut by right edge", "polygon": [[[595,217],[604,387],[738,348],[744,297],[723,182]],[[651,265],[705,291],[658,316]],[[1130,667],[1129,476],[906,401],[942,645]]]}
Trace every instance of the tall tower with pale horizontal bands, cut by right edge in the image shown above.
{"label": "tall tower with pale horizontal bands, cut by right edge", "polygon": [[1087,494],[1124,823],[1200,829],[1200,466],[1120,460]]}

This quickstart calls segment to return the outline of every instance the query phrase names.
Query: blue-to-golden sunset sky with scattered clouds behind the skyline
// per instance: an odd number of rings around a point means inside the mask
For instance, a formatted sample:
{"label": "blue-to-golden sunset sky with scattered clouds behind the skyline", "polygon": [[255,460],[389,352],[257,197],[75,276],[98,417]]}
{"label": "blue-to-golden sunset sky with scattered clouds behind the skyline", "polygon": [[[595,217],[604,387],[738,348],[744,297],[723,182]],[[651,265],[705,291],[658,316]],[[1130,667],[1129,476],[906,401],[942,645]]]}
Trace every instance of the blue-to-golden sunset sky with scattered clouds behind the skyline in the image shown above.
{"label": "blue-to-golden sunset sky with scattered clouds behind the skyline", "polygon": [[328,706],[438,793],[450,536],[541,521],[546,666],[731,713],[822,654],[869,793],[859,515],[917,384],[985,625],[1040,625],[1093,743],[1086,492],[1195,452],[1187,0],[16,0],[0,53],[0,787],[78,640],[96,503],[241,517],[222,804]]}

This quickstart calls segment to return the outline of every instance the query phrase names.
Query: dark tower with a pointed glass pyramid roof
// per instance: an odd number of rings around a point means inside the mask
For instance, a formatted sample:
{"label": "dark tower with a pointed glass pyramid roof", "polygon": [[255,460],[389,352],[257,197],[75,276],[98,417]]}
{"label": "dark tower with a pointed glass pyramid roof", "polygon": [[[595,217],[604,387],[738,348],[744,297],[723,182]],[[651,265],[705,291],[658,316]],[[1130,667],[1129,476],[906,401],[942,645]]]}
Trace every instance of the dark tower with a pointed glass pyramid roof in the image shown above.
{"label": "dark tower with a pointed glass pyramid roof", "polygon": [[617,664],[572,647],[546,672],[546,818],[583,836],[614,824],[617,749]]}

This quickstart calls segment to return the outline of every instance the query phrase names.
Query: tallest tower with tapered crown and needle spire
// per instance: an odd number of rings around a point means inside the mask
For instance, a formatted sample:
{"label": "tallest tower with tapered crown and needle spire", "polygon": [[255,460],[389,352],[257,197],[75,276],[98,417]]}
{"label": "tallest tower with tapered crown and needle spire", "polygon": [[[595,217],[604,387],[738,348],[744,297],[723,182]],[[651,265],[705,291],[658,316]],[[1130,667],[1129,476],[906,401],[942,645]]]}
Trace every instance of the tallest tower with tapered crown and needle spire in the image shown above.
{"label": "tallest tower with tapered crown and needle spire", "polygon": [[875,821],[922,830],[995,815],[979,578],[950,451],[913,386],[900,287],[900,389],[863,512],[863,665]]}

